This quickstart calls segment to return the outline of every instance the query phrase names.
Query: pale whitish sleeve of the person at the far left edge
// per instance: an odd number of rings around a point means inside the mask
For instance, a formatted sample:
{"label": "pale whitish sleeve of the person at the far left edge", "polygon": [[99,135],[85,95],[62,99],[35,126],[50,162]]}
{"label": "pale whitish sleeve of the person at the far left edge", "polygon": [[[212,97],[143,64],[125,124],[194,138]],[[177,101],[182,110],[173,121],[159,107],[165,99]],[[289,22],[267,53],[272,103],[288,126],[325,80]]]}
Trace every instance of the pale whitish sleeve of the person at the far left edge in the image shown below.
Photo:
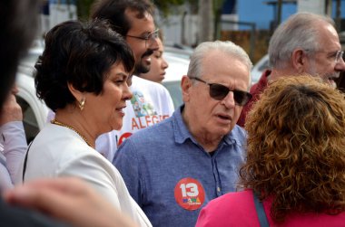
{"label": "pale whitish sleeve of the person at the far left edge", "polygon": [[11,121],[0,127],[0,141],[4,145],[6,168],[13,183],[20,182],[18,170],[23,163],[27,149],[25,131],[22,121]]}

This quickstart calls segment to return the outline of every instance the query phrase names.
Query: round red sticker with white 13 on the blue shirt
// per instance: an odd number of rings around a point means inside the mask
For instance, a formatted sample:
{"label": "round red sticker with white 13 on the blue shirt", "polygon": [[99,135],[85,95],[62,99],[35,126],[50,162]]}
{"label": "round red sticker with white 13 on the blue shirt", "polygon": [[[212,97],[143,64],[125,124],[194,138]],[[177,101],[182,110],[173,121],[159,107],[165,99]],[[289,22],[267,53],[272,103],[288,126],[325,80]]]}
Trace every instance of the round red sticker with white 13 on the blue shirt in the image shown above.
{"label": "round red sticker with white 13 on the blue shirt", "polygon": [[194,211],[205,201],[205,191],[202,184],[190,177],[180,180],[174,189],[176,203],[183,209]]}

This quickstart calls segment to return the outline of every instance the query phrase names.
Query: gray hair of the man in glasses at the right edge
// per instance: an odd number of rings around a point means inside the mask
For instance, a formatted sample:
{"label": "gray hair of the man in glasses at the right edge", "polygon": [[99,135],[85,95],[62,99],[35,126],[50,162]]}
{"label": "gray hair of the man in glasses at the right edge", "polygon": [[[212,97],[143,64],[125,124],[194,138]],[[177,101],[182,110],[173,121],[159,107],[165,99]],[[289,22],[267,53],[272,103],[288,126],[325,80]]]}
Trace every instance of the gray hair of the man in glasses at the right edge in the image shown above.
{"label": "gray hair of the man in glasses at the right edge", "polygon": [[334,26],[330,17],[311,13],[293,14],[285,23],[279,25],[271,36],[269,45],[270,66],[284,68],[297,48],[308,54],[318,51],[320,22]]}

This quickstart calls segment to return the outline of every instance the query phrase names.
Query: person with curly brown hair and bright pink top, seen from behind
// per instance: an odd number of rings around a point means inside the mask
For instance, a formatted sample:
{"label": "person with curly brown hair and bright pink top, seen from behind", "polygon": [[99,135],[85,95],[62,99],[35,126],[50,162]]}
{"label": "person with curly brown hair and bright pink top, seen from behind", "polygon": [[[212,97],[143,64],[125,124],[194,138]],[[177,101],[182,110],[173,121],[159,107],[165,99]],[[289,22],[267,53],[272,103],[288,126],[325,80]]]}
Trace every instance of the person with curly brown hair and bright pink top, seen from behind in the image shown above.
{"label": "person with curly brown hair and bright pink top, seen from behind", "polygon": [[283,77],[247,120],[245,190],[212,200],[196,226],[345,226],[345,95],[309,75]]}

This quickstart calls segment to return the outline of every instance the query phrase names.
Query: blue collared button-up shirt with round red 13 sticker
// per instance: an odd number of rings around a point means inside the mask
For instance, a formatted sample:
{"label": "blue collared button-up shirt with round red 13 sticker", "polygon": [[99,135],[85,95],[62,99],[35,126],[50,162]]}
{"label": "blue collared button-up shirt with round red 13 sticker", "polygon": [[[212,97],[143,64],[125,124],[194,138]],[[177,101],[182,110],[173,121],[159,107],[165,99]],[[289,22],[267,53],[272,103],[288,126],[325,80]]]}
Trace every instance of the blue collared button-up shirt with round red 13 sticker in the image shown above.
{"label": "blue collared button-up shirt with round red 13 sticker", "polygon": [[242,128],[236,125],[211,156],[186,128],[182,109],[127,138],[113,159],[153,226],[194,226],[206,203],[235,191],[244,162]]}

